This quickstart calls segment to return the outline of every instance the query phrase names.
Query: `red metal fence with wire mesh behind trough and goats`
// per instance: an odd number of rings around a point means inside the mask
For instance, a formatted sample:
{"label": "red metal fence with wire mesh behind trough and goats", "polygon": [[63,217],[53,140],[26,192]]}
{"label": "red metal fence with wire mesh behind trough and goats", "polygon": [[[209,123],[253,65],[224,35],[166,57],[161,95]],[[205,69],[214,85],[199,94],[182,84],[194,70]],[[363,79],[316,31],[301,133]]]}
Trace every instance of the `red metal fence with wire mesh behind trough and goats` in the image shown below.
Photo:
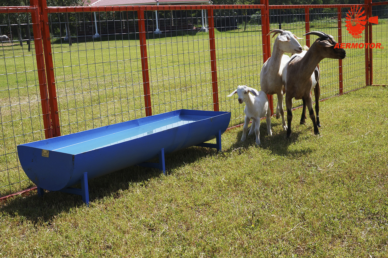
{"label": "red metal fence with wire mesh behind trough and goats", "polygon": [[[345,26],[353,5],[47,7],[31,0],[0,7],[0,34],[9,36],[0,43],[0,196],[33,187],[18,144],[179,108],[230,111],[230,126],[241,124],[243,107],[226,96],[238,84],[260,89],[270,30],[299,37],[318,30],[339,43],[385,47],[387,6],[359,5],[367,18],[379,17],[361,38]],[[346,51],[344,60],[320,63],[322,99],[386,84],[385,49]]]}

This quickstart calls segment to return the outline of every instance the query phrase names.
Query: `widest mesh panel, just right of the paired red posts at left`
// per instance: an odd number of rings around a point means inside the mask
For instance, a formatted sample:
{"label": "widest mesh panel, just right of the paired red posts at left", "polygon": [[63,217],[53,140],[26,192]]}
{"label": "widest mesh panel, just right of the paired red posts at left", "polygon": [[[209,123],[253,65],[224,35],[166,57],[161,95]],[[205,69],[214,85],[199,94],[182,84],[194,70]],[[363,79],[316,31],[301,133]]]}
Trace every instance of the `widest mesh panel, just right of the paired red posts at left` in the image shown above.
{"label": "widest mesh panel, just right of the paired red posts at left", "polygon": [[49,21],[62,134],[145,116],[137,12],[51,13]]}

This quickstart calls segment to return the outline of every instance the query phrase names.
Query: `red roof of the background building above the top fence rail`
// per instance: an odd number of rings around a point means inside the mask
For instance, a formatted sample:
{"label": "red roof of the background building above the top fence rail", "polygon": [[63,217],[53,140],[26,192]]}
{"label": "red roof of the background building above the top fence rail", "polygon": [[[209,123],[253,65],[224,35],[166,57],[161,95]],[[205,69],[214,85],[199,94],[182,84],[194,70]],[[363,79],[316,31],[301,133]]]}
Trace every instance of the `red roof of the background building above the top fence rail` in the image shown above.
{"label": "red roof of the background building above the top fence rail", "polygon": [[210,0],[91,0],[90,6],[112,6],[112,5],[202,5],[212,4]]}

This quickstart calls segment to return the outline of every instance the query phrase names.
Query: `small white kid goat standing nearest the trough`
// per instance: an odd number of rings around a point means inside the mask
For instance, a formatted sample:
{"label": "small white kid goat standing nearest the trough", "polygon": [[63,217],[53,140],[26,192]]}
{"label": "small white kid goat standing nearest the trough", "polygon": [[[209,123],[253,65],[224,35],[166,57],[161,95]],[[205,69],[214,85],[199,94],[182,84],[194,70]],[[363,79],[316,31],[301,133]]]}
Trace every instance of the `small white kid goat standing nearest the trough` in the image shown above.
{"label": "small white kid goat standing nearest the trough", "polygon": [[[249,92],[251,92],[254,96],[249,94]],[[271,110],[268,108],[267,94],[265,94],[263,91],[258,92],[257,90],[246,85],[239,85],[234,92],[228,95],[228,97],[231,97],[235,93],[237,93],[237,95],[239,96],[240,104],[242,104],[242,102],[245,102],[245,123],[244,127],[242,128],[241,141],[245,140],[249,121],[252,120],[249,135],[255,132],[256,144],[260,145],[260,118],[267,116],[267,132],[268,135],[272,135]]]}

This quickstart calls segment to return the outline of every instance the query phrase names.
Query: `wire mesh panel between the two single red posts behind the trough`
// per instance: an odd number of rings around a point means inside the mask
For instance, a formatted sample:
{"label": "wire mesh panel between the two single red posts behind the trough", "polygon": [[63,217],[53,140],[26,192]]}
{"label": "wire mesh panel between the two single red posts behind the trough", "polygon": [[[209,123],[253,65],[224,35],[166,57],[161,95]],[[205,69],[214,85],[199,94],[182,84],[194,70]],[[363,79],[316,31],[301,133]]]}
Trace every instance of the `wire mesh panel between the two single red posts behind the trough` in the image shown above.
{"label": "wire mesh panel between the two single red posts behind the trough", "polygon": [[213,110],[209,34],[201,32],[201,10],[148,11],[145,20],[152,28],[147,40],[152,114]]}

